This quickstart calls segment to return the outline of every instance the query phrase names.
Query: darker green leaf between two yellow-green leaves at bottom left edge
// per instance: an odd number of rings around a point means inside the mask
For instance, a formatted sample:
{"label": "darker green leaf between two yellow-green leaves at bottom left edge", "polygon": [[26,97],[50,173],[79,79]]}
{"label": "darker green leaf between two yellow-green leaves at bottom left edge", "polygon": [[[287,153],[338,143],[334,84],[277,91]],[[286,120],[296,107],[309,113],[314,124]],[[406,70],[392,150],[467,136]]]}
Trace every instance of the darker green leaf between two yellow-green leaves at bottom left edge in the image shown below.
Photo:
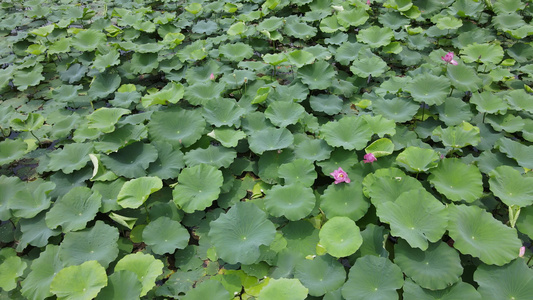
{"label": "darker green leaf between two yellow-green leaves at bottom left edge", "polygon": [[122,270],[114,272],[107,277],[105,286],[95,300],[118,300],[139,299],[141,295],[141,283],[137,280],[137,274]]}

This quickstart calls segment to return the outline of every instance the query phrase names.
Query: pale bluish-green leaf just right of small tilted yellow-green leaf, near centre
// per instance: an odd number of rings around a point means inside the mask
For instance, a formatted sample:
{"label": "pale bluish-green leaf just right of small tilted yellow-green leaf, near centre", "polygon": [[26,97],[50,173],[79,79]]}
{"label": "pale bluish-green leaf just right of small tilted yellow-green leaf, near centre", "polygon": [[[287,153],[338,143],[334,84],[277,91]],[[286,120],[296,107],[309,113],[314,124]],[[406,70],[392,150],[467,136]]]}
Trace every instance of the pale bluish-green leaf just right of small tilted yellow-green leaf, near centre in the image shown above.
{"label": "pale bluish-green leaf just right of small tilted yellow-green leaf, near centre", "polygon": [[250,136],[250,150],[257,154],[280,150],[292,145],[294,137],[287,128],[265,128]]}

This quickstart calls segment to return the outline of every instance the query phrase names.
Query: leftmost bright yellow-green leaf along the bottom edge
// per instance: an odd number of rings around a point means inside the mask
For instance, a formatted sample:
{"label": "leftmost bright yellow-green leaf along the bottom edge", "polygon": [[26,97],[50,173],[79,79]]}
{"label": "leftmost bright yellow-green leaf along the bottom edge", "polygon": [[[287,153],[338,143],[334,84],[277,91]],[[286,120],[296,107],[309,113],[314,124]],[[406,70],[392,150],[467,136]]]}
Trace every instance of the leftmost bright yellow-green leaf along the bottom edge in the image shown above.
{"label": "leftmost bright yellow-green leaf along the bottom edge", "polygon": [[105,268],[90,260],[59,271],[50,283],[50,291],[59,299],[90,300],[106,285]]}

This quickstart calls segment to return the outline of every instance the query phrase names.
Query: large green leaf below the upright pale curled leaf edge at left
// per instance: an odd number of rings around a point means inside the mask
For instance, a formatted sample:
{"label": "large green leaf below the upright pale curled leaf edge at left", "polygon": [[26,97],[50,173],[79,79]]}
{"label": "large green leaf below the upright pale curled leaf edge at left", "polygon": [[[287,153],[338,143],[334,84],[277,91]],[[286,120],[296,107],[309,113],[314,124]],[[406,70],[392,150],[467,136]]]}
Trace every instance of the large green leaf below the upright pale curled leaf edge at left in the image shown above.
{"label": "large green leaf below the upright pale curled leaf edge at left", "polygon": [[83,186],[72,188],[63,197],[56,200],[54,206],[46,213],[46,225],[50,229],[61,226],[63,232],[85,228],[87,222],[94,219],[102,205],[102,195]]}

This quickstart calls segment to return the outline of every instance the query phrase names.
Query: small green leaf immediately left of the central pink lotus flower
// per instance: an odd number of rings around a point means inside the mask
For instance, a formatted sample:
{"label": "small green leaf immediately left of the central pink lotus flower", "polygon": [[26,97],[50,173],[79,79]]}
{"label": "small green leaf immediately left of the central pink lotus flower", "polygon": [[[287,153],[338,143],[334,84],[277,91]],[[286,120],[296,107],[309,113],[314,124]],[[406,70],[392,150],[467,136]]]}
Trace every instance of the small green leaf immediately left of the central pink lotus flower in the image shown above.
{"label": "small green leaf immediately left of the central pink lotus flower", "polygon": [[305,187],[310,187],[315,182],[317,174],[312,161],[307,159],[296,159],[290,163],[281,165],[279,177],[285,180],[285,184],[300,183]]}

